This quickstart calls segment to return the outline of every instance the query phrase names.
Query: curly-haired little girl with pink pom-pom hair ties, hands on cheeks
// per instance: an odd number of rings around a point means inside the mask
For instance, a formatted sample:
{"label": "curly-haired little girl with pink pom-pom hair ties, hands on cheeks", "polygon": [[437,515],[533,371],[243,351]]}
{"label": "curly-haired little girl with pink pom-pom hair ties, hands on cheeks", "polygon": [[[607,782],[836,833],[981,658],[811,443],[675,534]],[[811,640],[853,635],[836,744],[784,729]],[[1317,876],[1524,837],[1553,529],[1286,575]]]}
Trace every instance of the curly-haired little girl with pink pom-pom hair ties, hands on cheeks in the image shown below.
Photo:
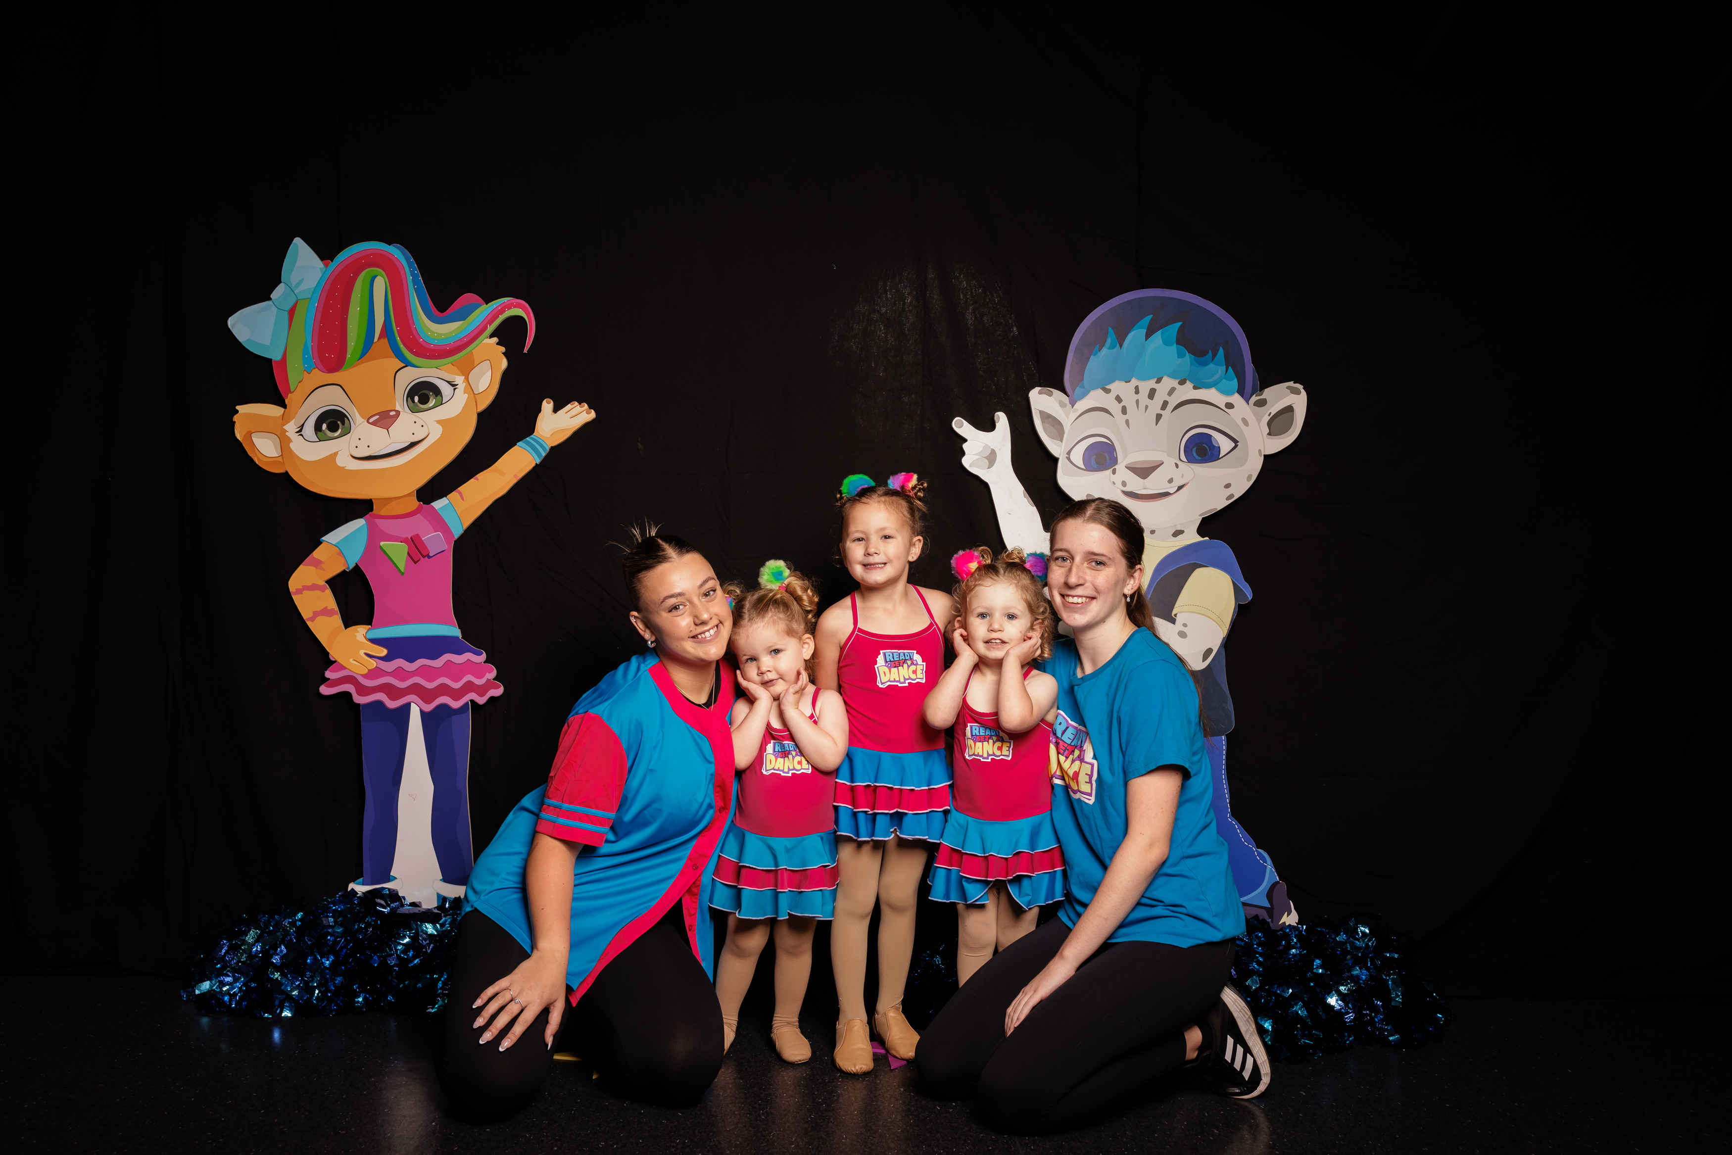
{"label": "curly-haired little girl with pink pom-pom hair ties, hands on cheeks", "polygon": [[1051,655],[1053,608],[1020,549],[956,554],[956,661],[927,694],[927,726],[956,727],[956,797],[932,864],[932,897],[956,904],[956,978],[1034,930],[1065,897],[1053,826],[1051,738],[1058,682],[1031,663]]}

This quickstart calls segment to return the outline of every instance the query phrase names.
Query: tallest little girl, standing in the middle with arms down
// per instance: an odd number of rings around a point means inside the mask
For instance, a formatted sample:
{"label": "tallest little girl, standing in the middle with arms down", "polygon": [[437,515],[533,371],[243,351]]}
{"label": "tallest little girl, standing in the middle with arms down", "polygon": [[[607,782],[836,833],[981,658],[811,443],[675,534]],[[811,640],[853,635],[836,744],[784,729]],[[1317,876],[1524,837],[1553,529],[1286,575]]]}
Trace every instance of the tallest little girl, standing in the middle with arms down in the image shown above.
{"label": "tallest little girl, standing in the middle with arms down", "polygon": [[895,1058],[914,1058],[920,1034],[902,1016],[914,952],[914,904],[930,843],[944,835],[951,771],[944,731],[921,708],[944,670],[949,594],[908,580],[925,547],[925,481],[897,473],[889,485],[864,474],[842,483],[840,559],[859,590],[818,620],[818,684],[842,693],[849,757],[837,771],[837,918],[830,959],[837,975],[835,1063],[871,1070],[866,1027],[866,925],[878,918],[878,1004],[871,1032]]}

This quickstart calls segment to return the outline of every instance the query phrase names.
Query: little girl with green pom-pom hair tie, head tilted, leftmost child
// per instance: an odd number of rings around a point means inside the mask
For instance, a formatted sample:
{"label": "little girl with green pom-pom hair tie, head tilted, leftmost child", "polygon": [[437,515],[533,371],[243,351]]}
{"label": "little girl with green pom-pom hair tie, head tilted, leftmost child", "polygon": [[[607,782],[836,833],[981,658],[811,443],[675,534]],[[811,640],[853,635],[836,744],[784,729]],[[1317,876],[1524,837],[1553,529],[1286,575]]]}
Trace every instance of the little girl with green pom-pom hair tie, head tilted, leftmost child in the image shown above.
{"label": "little girl with green pom-pom hair tie, head tilted, leftmost child", "polygon": [[837,907],[835,772],[849,752],[849,719],[835,691],[811,681],[818,590],[783,561],[759,587],[726,587],[741,698],[729,719],[740,791],[722,833],[708,902],[727,911],[715,963],[722,1049],[734,1042],[740,1003],[774,926],[776,1015],[769,1036],[790,1063],[812,1058],[800,1003],[812,975],[812,932]]}

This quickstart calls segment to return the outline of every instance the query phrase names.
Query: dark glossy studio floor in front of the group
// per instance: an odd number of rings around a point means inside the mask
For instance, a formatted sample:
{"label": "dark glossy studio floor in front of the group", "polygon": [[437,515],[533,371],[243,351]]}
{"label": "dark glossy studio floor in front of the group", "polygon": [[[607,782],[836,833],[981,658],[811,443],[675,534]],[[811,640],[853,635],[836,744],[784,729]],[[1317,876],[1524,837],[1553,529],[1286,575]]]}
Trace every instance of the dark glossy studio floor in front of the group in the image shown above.
{"label": "dark glossy studio floor in front of the group", "polygon": [[[1420,1051],[1276,1065],[1254,1103],[1160,1087],[1089,1129],[1020,1139],[923,1098],[909,1067],[781,1063],[767,1006],[748,1001],[700,1107],[643,1107],[559,1065],[525,1112],[478,1127],[442,1112],[431,1020],[208,1016],[168,978],[12,987],[14,1152],[1697,1152],[1720,1145],[1732,1027],[1727,1006],[1464,999]],[[805,1030],[826,1055],[830,1027]]]}

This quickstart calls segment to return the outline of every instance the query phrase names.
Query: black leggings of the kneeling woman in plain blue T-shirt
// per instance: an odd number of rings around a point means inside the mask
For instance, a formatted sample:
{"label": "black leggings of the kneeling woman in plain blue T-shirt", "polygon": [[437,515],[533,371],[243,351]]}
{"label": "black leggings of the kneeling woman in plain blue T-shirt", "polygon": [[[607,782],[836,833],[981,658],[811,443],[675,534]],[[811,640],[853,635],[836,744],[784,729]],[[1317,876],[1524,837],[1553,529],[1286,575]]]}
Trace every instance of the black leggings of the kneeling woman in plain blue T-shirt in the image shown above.
{"label": "black leggings of the kneeling woman in plain blue T-shirt", "polygon": [[1107,944],[1005,1036],[1005,1011],[1069,933],[1055,918],[1013,942],[939,1011],[914,1055],[932,1094],[979,1098],[991,1126],[1034,1134],[1082,1122],[1185,1063],[1185,1029],[1221,996],[1231,942]]}

